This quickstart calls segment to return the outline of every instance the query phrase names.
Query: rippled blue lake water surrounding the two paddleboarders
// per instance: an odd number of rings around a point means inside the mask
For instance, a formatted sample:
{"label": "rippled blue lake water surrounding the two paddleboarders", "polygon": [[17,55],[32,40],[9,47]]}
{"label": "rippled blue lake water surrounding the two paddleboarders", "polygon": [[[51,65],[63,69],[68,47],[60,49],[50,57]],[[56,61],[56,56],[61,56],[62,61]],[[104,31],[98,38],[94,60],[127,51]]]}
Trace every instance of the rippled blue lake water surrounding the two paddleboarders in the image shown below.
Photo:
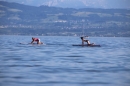
{"label": "rippled blue lake water surrounding the two paddleboarders", "polygon": [[130,86],[130,38],[31,37],[0,36],[0,86]]}

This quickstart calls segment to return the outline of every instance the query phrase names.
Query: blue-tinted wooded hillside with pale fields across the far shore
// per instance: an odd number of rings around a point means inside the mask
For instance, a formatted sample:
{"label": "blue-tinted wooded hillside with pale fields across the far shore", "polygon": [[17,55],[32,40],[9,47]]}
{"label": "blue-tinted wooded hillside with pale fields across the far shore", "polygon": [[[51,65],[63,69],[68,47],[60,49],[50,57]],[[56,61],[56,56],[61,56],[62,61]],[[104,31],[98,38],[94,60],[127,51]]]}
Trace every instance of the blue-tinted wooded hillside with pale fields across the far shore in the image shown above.
{"label": "blue-tinted wooded hillside with pale fields across the far shore", "polygon": [[35,7],[0,1],[0,34],[130,37],[130,10]]}

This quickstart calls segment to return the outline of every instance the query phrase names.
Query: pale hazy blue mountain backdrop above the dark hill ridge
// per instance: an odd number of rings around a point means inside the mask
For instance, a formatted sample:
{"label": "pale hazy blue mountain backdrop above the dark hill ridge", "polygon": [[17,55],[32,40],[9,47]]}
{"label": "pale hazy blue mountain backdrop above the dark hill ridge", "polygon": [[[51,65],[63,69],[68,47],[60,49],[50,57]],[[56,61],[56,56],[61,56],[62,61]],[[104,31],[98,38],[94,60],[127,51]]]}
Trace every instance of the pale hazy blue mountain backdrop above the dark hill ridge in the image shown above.
{"label": "pale hazy blue mountain backdrop above the dark hill ridge", "polygon": [[[64,4],[71,5],[74,7],[75,5],[78,7],[87,6],[94,8],[130,8],[130,0],[0,0],[0,1],[9,1],[9,2],[17,2],[26,5],[40,6],[40,5],[53,5],[53,6],[61,6]],[[80,2],[80,3],[79,3]],[[82,3],[82,4],[81,4]]]}

